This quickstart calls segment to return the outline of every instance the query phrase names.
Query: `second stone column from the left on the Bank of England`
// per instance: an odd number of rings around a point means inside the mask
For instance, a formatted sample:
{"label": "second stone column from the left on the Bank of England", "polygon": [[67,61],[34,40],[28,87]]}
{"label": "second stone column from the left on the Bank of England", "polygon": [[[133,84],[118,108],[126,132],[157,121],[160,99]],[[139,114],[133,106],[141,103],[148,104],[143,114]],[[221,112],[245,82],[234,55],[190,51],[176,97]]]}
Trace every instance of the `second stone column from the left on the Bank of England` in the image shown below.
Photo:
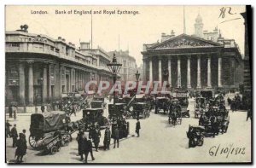
{"label": "second stone column from the left on the Bank of England", "polygon": [[34,81],[33,81],[33,62],[28,62],[28,104],[33,105],[34,104]]}

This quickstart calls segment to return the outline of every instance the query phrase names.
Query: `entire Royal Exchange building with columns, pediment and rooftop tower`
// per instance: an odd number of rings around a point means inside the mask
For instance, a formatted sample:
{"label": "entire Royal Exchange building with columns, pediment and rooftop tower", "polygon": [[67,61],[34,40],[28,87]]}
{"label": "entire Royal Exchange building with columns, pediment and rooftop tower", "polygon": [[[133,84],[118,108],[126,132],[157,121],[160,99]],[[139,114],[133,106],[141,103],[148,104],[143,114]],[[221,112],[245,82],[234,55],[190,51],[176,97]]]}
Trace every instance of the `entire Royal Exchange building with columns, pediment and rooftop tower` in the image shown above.
{"label": "entire Royal Exchange building with columns, pediment and rooftop tower", "polygon": [[243,81],[241,53],[234,39],[203,32],[201,15],[195,34],[161,34],[161,42],[143,44],[143,81],[164,81],[172,87],[192,89],[237,88]]}

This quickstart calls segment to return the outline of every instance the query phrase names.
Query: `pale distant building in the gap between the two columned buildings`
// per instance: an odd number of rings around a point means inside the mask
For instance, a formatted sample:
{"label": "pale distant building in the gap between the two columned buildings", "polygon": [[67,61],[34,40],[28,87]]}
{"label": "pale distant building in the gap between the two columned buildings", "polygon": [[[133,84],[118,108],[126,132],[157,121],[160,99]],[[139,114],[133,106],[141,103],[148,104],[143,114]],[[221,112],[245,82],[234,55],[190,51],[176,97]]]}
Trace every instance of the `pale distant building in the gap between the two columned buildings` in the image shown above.
{"label": "pale distant building in the gap between the two columned buildings", "polygon": [[129,55],[129,50],[126,51],[110,51],[108,55],[115,53],[117,61],[122,64],[119,71],[121,81],[135,81],[135,73],[137,72],[137,64],[134,57]]}

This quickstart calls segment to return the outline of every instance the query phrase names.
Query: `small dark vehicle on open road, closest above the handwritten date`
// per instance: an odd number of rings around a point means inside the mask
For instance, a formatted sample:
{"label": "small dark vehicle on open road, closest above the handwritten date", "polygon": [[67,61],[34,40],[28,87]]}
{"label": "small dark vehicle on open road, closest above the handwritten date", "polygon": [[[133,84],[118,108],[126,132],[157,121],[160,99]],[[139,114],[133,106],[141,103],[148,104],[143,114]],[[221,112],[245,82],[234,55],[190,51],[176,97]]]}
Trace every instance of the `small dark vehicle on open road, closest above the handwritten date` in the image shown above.
{"label": "small dark vehicle on open road, closest above the handwritten date", "polygon": [[204,143],[205,128],[201,126],[189,125],[189,131],[187,137],[189,138],[189,148],[195,146],[202,146]]}

